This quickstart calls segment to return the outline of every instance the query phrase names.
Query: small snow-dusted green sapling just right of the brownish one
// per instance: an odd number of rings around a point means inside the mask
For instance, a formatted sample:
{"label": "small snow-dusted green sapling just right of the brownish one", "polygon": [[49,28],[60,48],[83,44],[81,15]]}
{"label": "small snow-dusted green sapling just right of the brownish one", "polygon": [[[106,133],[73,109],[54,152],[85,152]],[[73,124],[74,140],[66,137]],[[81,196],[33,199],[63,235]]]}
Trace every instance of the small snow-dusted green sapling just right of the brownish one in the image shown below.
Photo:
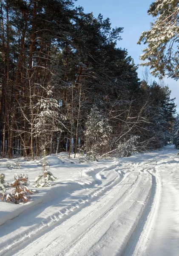
{"label": "small snow-dusted green sapling just right of the brownish one", "polygon": [[46,157],[45,157],[45,150],[43,151],[44,154],[44,161],[42,163],[43,166],[43,173],[42,175],[38,175],[37,178],[35,179],[35,182],[37,183],[33,187],[45,187],[45,186],[51,186],[49,183],[50,181],[57,180],[57,177],[54,177],[54,175],[48,171],[47,165],[46,165]]}

